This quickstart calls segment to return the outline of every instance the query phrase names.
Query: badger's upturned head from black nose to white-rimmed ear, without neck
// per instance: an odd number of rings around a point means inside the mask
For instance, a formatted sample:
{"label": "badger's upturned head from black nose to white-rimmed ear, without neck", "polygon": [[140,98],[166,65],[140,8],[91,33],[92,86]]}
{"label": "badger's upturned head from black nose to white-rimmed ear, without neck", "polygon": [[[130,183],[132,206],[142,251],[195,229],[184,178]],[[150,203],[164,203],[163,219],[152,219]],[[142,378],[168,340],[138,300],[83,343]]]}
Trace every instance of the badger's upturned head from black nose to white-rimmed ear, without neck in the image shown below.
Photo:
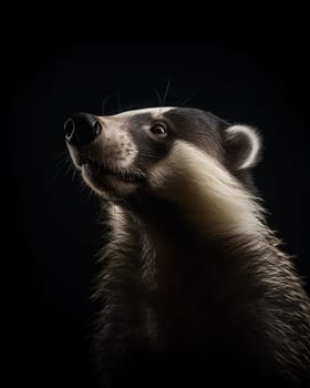
{"label": "badger's upturned head from black nose to white-rimmed ear, without neck", "polygon": [[115,202],[148,193],[189,201],[197,185],[228,197],[234,190],[248,190],[250,169],[259,159],[256,130],[198,109],[79,113],[64,126],[71,157],[86,184]]}

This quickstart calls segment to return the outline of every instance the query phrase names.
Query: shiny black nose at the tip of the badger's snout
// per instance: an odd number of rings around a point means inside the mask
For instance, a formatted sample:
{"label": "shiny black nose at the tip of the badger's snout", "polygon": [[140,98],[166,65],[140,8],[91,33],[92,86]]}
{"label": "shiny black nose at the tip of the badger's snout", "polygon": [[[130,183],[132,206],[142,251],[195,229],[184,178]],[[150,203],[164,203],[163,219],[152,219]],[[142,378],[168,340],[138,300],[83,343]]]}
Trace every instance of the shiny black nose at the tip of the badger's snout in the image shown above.
{"label": "shiny black nose at the tip of the badger's snout", "polygon": [[78,113],[64,122],[65,140],[72,145],[83,145],[96,139],[101,124],[95,116],[87,113]]}

